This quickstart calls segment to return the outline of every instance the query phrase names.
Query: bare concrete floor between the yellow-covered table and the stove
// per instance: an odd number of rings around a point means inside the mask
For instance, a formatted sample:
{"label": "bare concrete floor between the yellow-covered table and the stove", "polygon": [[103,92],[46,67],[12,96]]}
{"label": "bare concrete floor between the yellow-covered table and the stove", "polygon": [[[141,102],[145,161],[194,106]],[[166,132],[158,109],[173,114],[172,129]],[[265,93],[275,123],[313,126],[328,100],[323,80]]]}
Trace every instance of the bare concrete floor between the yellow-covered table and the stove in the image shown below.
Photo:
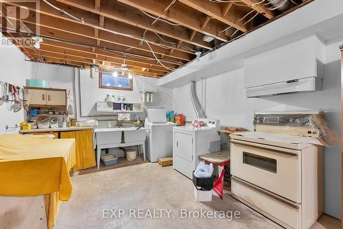
{"label": "bare concrete floor between the yellow-covered table and the stove", "polygon": [[[213,195],[212,202],[197,202],[191,180],[172,167],[157,163],[73,176],[72,182],[73,194],[69,202],[62,204],[56,228],[281,228],[228,195],[223,200]],[[123,209],[124,213],[115,218],[117,212],[112,215],[110,209],[113,212]],[[158,209],[171,210],[171,213],[169,218],[165,212],[161,218],[152,219],[150,215],[145,219],[134,218],[139,217],[139,209],[142,216],[148,210],[153,213],[154,209],[155,217],[161,217]],[[197,213],[180,218],[181,209]],[[221,218],[216,213],[215,219],[205,219],[197,215],[201,210],[213,214],[214,211],[239,211],[240,217]],[[108,218],[103,217],[104,212]]]}

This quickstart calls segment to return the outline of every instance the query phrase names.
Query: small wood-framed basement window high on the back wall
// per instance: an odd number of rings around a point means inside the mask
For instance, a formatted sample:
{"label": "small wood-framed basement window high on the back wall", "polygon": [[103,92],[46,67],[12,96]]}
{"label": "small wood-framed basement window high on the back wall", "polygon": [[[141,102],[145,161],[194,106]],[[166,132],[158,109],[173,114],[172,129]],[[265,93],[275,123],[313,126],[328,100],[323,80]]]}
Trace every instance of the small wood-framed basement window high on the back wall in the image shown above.
{"label": "small wood-framed basement window high on the back wall", "polygon": [[99,72],[99,88],[132,91],[132,79],[126,75],[113,76],[113,73]]}

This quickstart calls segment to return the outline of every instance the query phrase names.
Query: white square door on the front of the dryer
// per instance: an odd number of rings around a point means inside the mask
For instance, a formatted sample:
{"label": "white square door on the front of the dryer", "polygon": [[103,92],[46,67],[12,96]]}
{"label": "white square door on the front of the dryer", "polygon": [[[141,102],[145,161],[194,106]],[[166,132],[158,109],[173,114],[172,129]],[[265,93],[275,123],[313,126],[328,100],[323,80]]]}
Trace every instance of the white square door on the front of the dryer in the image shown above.
{"label": "white square door on the front of the dryer", "polygon": [[180,132],[174,133],[174,152],[176,156],[193,161],[193,136]]}

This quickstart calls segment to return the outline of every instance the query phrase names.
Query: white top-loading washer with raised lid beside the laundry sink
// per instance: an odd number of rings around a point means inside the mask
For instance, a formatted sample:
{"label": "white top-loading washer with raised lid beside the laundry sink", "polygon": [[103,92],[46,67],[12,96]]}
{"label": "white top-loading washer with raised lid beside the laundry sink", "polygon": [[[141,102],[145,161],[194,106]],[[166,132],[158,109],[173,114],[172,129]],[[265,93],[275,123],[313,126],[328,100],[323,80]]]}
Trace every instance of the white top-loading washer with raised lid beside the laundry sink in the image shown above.
{"label": "white top-loading washer with raised lid beside the laundry sink", "polygon": [[145,151],[150,162],[157,162],[158,158],[173,155],[173,127],[175,123],[167,121],[165,108],[147,108],[147,118],[144,127],[147,129]]}

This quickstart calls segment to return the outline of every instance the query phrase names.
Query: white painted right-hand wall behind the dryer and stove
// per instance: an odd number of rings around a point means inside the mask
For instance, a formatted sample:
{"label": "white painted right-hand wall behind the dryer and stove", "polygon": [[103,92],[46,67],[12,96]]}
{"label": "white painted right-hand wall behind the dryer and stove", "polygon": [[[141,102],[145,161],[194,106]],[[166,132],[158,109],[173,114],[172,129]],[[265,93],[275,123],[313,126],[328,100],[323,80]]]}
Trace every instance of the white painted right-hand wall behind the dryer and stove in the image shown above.
{"label": "white painted right-hand wall behind the dryer and stove", "polygon": [[[253,130],[253,114],[255,111],[274,110],[324,110],[325,117],[333,130],[340,134],[340,51],[338,43],[328,45],[322,52],[324,65],[323,90],[314,93],[276,95],[274,97],[246,98],[244,89],[244,68],[228,71],[196,82],[196,92],[200,101],[204,101],[207,117],[220,119],[222,125],[241,126]],[[343,40],[342,40],[343,44]],[[330,52],[335,46],[334,54]],[[302,46],[295,46],[302,50]],[[263,55],[263,54],[261,54]],[[260,55],[260,56],[261,56]],[[283,52],[279,53],[279,57]],[[272,56],[270,56],[272,57]],[[285,68],[279,71],[287,72],[291,67],[288,58],[282,59]],[[268,53],[263,56],[264,67],[268,67]],[[299,67],[299,66],[298,66]],[[225,66],[222,66],[225,68]],[[279,71],[274,71],[277,77]],[[257,75],[257,79],[263,75]],[[201,93],[203,91],[203,93]],[[203,98],[201,95],[204,95]],[[180,86],[173,90],[177,112],[186,115],[187,120],[195,119],[196,115],[191,106],[189,85]],[[324,149],[324,211],[333,217],[341,217],[341,152],[340,145]]]}

